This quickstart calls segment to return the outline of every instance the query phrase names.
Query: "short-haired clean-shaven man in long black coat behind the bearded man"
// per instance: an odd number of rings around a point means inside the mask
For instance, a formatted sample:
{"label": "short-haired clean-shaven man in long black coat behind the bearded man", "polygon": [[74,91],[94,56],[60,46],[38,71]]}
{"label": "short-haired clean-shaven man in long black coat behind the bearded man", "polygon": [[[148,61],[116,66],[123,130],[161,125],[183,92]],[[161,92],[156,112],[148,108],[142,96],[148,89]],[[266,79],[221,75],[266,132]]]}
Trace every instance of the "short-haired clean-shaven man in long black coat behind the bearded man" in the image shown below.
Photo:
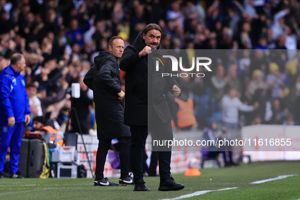
{"label": "short-haired clean-shaven man in long black coat behind the bearded man", "polygon": [[[95,65],[87,72],[83,82],[93,90],[97,137],[99,140],[96,156],[96,177],[94,186],[116,186],[134,184],[128,175],[130,130],[124,124],[124,95],[120,84],[118,59],[124,51],[121,37],[109,41],[109,52],[100,52],[95,57]],[[118,183],[104,178],[104,165],[111,140],[117,138],[120,145],[121,177]]]}

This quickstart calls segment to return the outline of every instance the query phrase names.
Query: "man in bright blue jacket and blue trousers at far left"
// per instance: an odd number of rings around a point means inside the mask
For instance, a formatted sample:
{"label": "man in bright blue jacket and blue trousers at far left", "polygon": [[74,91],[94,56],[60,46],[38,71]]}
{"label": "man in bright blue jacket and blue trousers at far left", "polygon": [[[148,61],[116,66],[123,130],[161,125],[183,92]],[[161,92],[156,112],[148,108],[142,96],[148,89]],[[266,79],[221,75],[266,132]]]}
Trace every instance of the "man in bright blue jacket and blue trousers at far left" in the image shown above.
{"label": "man in bright blue jacket and blue trousers at far left", "polygon": [[19,173],[19,157],[24,122],[30,122],[25,79],[20,74],[26,66],[22,54],[15,53],[11,64],[0,74],[0,178],[10,146],[10,178],[24,178]]}

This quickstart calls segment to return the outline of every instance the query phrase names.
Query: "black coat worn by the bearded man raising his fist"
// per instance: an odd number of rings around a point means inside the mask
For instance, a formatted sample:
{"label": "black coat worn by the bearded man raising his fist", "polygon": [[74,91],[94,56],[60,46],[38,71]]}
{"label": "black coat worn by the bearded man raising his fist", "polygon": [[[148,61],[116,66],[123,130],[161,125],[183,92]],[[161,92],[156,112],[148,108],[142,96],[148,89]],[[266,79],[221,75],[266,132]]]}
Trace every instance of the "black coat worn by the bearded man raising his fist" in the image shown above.
{"label": "black coat worn by the bearded man raising his fist", "polygon": [[[120,69],[126,72],[124,122],[127,125],[148,125],[150,122],[148,119],[151,119],[152,114],[158,115],[163,123],[172,120],[164,94],[168,91],[174,93],[173,86],[179,87],[179,85],[170,76],[162,77],[162,73],[172,73],[171,60],[165,59],[166,66],[159,66],[157,72],[154,67],[155,60],[153,56],[150,56],[151,54],[139,57],[144,47],[145,42],[140,31],[135,42],[126,47],[120,60]],[[160,45],[157,49],[165,51]],[[148,59],[150,59],[149,66]],[[148,79],[148,77],[151,78]],[[155,113],[152,113],[153,110]]]}

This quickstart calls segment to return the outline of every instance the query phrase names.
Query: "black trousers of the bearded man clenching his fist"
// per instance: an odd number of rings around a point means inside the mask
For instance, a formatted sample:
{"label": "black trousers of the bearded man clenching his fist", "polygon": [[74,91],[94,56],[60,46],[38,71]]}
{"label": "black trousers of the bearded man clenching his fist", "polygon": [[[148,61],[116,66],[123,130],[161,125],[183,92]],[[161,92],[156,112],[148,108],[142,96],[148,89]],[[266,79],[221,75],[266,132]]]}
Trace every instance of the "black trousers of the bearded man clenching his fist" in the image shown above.
{"label": "black trousers of the bearded man clenching his fist", "polygon": [[[152,139],[173,140],[173,130],[171,121],[163,124],[157,115],[152,115],[150,130],[154,130]],[[148,126],[130,125],[131,146],[130,161],[134,181],[137,182],[143,178],[143,148],[148,135]],[[151,132],[151,133],[152,133]],[[171,175],[171,152],[172,148],[159,147],[158,162],[160,180],[169,178]]]}

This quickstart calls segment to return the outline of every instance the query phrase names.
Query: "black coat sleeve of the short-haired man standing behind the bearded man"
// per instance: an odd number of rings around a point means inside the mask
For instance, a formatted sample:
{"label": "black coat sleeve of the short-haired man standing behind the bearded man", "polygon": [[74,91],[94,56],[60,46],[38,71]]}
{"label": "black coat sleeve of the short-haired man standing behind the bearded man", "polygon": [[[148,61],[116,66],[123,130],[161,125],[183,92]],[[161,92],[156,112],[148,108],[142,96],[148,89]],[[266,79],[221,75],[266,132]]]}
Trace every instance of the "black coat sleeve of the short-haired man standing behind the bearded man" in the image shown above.
{"label": "black coat sleeve of the short-haired man standing behind the bearded man", "polygon": [[[121,86],[113,79],[112,75],[116,75],[117,72],[114,69],[114,62],[112,60],[107,60],[102,66],[101,70],[97,72],[97,77],[99,77],[99,82],[104,83],[108,89],[115,93],[121,91]],[[116,61],[117,64],[117,61]]]}

